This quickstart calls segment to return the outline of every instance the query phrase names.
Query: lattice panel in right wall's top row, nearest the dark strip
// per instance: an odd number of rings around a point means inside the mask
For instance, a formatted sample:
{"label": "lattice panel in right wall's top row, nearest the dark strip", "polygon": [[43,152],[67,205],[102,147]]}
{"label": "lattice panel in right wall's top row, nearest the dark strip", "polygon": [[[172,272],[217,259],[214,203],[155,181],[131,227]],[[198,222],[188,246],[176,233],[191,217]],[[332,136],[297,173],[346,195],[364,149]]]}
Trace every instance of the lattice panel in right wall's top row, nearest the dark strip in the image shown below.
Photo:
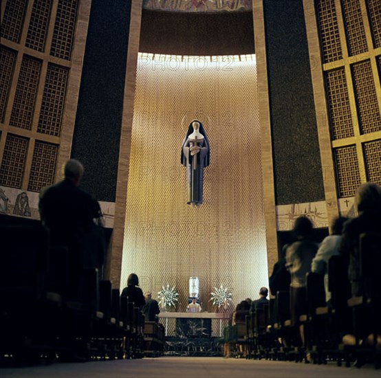
{"label": "lattice panel in right wall's top row, nearest the dark strip", "polygon": [[323,62],[342,59],[335,0],[316,1]]}

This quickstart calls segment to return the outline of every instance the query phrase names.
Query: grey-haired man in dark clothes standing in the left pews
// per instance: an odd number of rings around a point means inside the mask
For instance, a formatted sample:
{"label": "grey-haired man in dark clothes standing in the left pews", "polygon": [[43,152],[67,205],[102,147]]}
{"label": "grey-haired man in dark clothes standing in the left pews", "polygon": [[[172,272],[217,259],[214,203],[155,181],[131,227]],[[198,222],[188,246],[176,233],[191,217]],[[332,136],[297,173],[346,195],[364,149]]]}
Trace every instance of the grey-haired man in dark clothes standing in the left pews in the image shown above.
{"label": "grey-haired man in dark clothes standing in the left pews", "polygon": [[72,295],[78,287],[81,269],[93,267],[101,271],[105,261],[105,236],[94,223],[101,216],[100,205],[78,188],[83,172],[78,160],[68,160],[65,179],[43,188],[39,201],[41,221],[50,230],[50,244],[68,249]]}

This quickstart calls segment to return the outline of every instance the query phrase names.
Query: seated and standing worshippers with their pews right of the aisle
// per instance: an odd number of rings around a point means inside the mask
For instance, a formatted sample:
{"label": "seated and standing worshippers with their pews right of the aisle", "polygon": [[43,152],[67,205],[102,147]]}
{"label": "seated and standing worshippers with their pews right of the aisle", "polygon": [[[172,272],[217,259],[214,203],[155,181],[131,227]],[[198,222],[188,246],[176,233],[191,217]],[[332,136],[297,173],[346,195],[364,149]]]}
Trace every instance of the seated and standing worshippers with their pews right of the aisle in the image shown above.
{"label": "seated and standing worshippers with their pews right of the aisle", "polygon": [[[356,192],[358,216],[339,216],[321,243],[300,216],[269,278],[272,299],[243,300],[225,330],[224,355],[380,364],[381,188]],[[249,303],[251,302],[251,306]],[[276,357],[275,357],[276,356]]]}

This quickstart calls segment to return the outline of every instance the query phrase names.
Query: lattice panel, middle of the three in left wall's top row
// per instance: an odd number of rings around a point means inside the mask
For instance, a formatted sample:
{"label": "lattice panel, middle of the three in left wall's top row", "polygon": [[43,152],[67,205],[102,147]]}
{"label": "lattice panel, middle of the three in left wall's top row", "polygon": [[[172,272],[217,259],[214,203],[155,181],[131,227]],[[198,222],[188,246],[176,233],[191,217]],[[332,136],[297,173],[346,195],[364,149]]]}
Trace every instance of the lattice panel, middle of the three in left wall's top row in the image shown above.
{"label": "lattice panel, middle of the three in left wall's top row", "polygon": [[52,0],[34,0],[25,46],[43,52]]}

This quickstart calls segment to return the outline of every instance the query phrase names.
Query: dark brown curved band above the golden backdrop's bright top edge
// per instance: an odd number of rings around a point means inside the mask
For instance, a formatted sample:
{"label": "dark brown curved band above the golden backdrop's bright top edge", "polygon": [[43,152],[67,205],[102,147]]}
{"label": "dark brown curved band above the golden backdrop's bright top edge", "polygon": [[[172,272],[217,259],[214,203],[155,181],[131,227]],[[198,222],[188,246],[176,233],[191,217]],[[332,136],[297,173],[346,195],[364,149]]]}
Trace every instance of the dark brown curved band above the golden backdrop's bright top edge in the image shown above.
{"label": "dark brown curved band above the golden backdrop's bright top edge", "polygon": [[196,56],[254,54],[252,12],[143,10],[139,51]]}

